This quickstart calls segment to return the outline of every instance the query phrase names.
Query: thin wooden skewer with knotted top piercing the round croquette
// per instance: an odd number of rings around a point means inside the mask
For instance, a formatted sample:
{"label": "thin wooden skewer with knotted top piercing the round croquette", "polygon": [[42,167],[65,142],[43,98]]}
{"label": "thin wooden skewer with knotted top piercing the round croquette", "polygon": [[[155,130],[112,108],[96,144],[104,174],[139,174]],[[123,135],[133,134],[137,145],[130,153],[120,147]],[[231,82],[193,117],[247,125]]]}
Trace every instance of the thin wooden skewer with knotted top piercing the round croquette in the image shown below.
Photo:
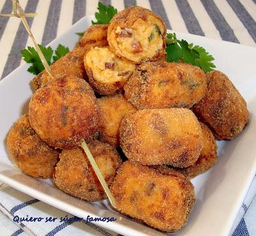
{"label": "thin wooden skewer with knotted top piercing the round croquette", "polygon": [[[0,14],[0,16],[20,18],[20,20],[24,24],[24,27],[25,27],[26,31],[28,31],[28,34],[29,34],[31,40],[33,41],[33,43],[35,45],[36,51],[38,52],[38,56],[40,57],[40,59],[42,61],[42,64],[44,65],[45,70],[49,73],[51,78],[53,78],[51,68],[50,68],[49,64],[47,63],[47,61],[44,57],[44,54],[42,53],[42,51],[38,47],[38,44],[36,43],[36,40],[35,40],[32,32],[31,32],[31,29],[29,28],[28,21],[26,20],[26,17],[35,17],[36,13],[24,13],[24,10],[22,9],[22,7],[19,4],[19,0],[13,0],[12,4],[13,4],[13,14]],[[108,188],[108,184],[106,183],[104,177],[102,176],[102,173],[100,172],[100,169],[99,169],[97,163],[95,162],[95,159],[93,158],[92,153],[88,149],[88,146],[87,146],[86,142],[84,140],[81,140],[80,145],[83,148],[86,156],[88,157],[88,159],[89,159],[89,161],[92,165],[92,168],[93,168],[94,172],[96,173],[96,175],[97,175],[97,177],[100,181],[100,184],[102,185],[102,188],[106,192],[106,195],[108,196],[109,202],[111,203],[111,205],[113,205],[114,208],[116,208],[115,199],[114,199],[113,195],[111,194],[111,192]]]}

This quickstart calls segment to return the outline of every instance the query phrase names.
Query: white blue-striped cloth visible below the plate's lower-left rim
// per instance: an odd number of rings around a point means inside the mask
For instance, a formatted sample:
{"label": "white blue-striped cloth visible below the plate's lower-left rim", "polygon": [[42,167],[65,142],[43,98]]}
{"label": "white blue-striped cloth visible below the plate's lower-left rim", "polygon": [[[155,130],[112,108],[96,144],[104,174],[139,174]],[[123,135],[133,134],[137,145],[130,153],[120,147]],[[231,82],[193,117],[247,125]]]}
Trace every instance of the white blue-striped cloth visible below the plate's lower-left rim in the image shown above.
{"label": "white blue-striped cloth visible below the plate's lower-left rim", "polygon": [[[47,205],[3,184],[0,187],[0,235],[106,235],[116,236],[93,223],[77,221],[74,216]],[[35,222],[22,221],[42,218]],[[50,218],[54,221],[50,222]],[[48,222],[45,222],[47,221]],[[52,220],[51,219],[51,220]],[[74,220],[72,220],[74,219]],[[17,221],[22,222],[17,222]]]}

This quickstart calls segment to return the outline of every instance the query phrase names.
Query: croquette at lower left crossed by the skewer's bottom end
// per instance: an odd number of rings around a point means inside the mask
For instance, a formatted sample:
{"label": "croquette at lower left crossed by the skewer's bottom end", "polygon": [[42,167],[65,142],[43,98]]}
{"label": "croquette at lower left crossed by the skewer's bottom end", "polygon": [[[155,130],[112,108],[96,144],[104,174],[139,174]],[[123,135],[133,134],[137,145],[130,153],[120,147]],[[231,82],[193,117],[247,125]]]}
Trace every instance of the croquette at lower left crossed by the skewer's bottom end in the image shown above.
{"label": "croquette at lower left crossed by the skewer's bottom end", "polygon": [[[93,141],[88,144],[108,186],[115,177],[122,161],[116,150],[109,144]],[[99,201],[106,198],[97,175],[95,174],[83,149],[76,147],[63,150],[54,174],[56,186],[69,195],[83,200]]]}

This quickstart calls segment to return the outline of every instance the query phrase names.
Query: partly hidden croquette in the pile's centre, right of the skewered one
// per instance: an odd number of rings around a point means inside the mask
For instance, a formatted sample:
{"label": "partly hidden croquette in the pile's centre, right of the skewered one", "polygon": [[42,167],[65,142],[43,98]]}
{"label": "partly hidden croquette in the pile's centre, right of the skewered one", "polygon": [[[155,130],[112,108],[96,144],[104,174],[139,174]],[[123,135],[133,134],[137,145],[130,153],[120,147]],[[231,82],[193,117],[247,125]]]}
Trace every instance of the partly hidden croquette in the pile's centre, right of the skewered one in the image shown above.
{"label": "partly hidden croquette in the pile's centre, right of the skewered one", "polygon": [[116,147],[120,144],[119,128],[122,119],[125,115],[135,112],[137,109],[125,100],[122,94],[99,98],[98,103],[102,114],[100,141]]}

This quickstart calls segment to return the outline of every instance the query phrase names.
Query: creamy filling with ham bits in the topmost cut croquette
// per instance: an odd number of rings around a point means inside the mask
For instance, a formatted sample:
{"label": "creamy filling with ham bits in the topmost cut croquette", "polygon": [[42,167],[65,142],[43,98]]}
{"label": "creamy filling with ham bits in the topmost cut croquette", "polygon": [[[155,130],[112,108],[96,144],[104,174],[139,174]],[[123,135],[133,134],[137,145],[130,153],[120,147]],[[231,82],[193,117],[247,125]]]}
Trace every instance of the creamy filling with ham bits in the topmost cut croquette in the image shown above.
{"label": "creamy filling with ham bits in the topmost cut croquette", "polygon": [[129,28],[116,27],[116,41],[125,57],[140,62],[157,55],[163,48],[163,29],[159,25],[155,18],[139,18]]}

